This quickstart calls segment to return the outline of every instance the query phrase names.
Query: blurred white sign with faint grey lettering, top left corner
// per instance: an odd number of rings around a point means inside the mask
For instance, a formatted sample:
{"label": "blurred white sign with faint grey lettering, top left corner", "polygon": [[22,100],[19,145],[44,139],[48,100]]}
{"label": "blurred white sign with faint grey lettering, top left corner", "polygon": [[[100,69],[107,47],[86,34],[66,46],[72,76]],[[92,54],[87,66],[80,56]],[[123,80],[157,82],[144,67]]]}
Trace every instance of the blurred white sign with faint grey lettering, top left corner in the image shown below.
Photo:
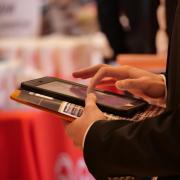
{"label": "blurred white sign with faint grey lettering, top left corner", "polygon": [[40,30],[40,0],[0,1],[0,38],[37,36]]}

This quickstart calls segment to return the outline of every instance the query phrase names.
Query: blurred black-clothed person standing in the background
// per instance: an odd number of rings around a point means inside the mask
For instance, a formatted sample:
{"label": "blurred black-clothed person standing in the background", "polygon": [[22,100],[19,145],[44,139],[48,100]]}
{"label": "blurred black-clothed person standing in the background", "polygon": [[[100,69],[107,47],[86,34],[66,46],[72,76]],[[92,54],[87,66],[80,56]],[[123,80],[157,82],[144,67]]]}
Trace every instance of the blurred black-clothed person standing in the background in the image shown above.
{"label": "blurred black-clothed person standing in the background", "polygon": [[158,0],[96,0],[98,19],[114,50],[120,53],[155,53]]}

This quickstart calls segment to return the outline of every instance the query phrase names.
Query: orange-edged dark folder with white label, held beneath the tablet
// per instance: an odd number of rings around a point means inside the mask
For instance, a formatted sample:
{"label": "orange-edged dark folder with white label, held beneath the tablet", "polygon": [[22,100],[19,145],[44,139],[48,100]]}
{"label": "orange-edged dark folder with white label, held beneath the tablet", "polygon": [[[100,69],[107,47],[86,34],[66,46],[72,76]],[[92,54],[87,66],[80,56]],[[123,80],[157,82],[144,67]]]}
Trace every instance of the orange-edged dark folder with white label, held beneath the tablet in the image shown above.
{"label": "orange-edged dark folder with white label, held beneath the tablet", "polygon": [[[80,117],[84,111],[84,107],[82,106],[20,89],[15,90],[11,94],[11,99],[34,108],[56,114],[60,116],[62,120],[70,122]],[[108,120],[141,121],[149,117],[157,116],[162,112],[164,112],[164,108],[149,105],[145,111],[140,111],[130,117],[107,113],[104,113],[104,115]]]}

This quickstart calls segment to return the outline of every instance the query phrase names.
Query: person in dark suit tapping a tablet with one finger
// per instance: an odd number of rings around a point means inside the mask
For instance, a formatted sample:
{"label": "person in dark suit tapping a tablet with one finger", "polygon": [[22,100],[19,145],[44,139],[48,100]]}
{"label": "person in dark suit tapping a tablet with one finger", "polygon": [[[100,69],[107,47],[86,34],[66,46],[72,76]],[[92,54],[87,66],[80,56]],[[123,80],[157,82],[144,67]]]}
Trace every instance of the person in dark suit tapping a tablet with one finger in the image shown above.
{"label": "person in dark suit tapping a tablet with one finger", "polygon": [[161,115],[144,121],[107,121],[96,105],[96,96],[87,95],[83,115],[67,126],[67,132],[83,149],[87,167],[98,180],[126,175],[180,179],[180,1],[173,27],[167,83],[162,75],[129,66],[98,65],[73,74],[92,77],[88,92],[103,78],[112,77],[118,89],[164,100],[166,105]]}

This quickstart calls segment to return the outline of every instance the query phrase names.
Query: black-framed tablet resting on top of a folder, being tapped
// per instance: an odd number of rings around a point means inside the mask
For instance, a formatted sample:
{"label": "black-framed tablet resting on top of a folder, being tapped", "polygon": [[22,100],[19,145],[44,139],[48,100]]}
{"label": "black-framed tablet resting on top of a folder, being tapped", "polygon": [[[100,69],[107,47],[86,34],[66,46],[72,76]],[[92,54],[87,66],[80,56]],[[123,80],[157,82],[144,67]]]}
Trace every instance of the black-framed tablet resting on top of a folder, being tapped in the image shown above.
{"label": "black-framed tablet resting on top of a folder, being tapped", "polygon": [[[84,107],[87,86],[55,77],[43,77],[22,82],[21,89],[56,98]],[[142,111],[147,103],[130,95],[94,90],[97,106],[108,114],[130,116]]]}

